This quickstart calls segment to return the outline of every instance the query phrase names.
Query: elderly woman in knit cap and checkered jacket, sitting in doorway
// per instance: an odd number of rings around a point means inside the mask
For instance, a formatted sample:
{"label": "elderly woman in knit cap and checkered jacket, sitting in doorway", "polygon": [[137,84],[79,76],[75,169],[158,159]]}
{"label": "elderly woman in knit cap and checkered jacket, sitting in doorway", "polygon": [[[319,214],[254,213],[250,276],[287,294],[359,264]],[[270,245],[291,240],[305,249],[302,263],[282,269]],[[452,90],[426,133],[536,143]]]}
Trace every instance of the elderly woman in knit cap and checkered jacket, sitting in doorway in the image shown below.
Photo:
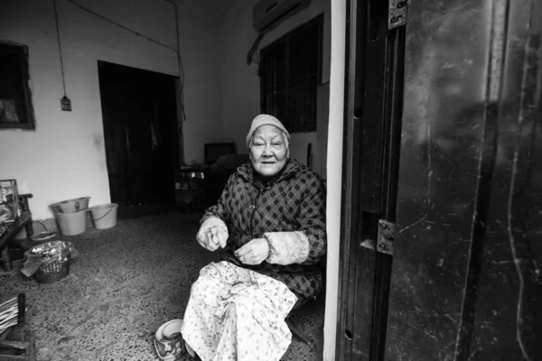
{"label": "elderly woman in knit cap and checkered jacket, sitting in doorway", "polygon": [[289,159],[290,134],[274,116],[254,118],[250,162],[232,174],[197,240],[225,248],[201,269],[182,323],[202,360],[279,360],[292,334],[285,317],[322,288],[326,252],[322,180]]}

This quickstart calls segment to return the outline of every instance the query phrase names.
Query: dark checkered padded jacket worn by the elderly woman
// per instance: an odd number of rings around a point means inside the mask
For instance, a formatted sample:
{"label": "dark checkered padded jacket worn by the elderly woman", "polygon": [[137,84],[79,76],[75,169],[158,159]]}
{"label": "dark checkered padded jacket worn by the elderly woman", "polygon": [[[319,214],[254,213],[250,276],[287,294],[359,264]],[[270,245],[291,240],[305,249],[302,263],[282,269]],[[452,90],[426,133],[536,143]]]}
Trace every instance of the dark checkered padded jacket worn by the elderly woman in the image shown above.
{"label": "dark checkered padded jacket worn by the elderly woman", "polygon": [[[284,282],[300,301],[322,289],[321,258],[326,253],[325,187],[306,166],[289,160],[285,171],[271,184],[258,184],[250,162],[233,173],[217,205],[208,208],[201,222],[221,218],[228,226],[228,250],[223,259]],[[303,264],[241,264],[233,255],[239,247],[266,232],[301,231],[309,239],[309,256]]]}

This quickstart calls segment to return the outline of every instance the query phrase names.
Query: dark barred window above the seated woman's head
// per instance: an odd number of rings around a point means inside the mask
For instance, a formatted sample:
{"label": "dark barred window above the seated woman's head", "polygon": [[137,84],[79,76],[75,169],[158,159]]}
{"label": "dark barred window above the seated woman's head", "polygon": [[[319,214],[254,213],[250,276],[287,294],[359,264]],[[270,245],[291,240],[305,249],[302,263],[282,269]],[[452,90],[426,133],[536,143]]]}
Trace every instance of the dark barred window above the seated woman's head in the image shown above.
{"label": "dark barred window above the seated woman's head", "polygon": [[262,112],[276,116],[290,133],[316,130],[322,28],[320,14],[260,51]]}

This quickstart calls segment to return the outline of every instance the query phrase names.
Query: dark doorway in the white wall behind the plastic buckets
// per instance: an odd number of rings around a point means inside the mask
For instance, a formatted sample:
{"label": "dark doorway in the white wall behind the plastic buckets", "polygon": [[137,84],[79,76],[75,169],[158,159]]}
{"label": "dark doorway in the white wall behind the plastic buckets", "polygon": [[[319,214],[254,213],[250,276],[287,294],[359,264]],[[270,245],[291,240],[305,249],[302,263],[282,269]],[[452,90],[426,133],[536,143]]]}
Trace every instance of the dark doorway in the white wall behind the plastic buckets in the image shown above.
{"label": "dark doorway in the white wall behind the plastic buckets", "polygon": [[179,168],[175,79],[98,62],[111,201],[174,201]]}

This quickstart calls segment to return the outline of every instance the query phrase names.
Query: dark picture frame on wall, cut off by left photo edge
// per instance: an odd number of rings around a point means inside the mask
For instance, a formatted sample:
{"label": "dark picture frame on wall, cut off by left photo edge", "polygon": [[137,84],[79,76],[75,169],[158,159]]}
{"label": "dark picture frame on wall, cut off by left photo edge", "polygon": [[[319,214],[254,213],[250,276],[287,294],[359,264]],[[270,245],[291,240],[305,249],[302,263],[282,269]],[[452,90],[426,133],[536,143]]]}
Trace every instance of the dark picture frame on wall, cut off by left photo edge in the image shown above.
{"label": "dark picture frame on wall, cut off by left photo edge", "polygon": [[0,130],[35,129],[28,47],[0,42]]}

